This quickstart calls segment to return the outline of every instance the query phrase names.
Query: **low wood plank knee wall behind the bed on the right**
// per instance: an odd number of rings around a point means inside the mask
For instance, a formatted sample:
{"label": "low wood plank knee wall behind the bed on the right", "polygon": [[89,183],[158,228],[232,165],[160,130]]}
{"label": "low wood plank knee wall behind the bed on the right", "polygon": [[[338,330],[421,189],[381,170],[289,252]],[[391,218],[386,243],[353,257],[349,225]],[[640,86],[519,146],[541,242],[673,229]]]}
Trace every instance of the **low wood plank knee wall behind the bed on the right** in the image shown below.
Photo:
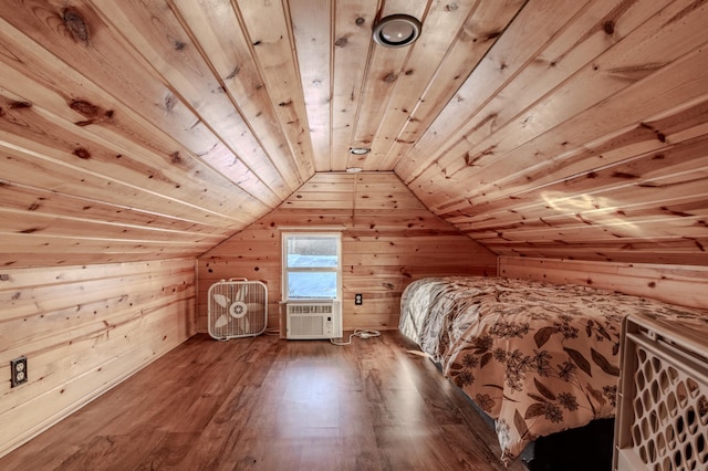
{"label": "low wood plank knee wall behind the bed on the right", "polygon": [[708,266],[500,257],[499,275],[587,284],[667,303],[708,308]]}

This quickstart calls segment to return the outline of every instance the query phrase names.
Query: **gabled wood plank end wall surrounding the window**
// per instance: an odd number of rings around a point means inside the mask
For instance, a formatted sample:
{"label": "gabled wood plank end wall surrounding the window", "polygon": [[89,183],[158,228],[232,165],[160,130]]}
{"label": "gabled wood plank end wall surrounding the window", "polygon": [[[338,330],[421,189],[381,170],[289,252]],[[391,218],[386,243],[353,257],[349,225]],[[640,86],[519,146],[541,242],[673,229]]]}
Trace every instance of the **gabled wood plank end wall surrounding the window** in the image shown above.
{"label": "gabled wood plank end wall surrounding the window", "polygon": [[[497,274],[497,257],[428,211],[393,172],[316,174],[277,210],[198,259],[197,328],[207,329],[211,283],[244,276],[269,289],[279,327],[283,228],[342,231],[343,327],[398,327],[400,294],[434,275]],[[354,294],[364,303],[354,305]]]}

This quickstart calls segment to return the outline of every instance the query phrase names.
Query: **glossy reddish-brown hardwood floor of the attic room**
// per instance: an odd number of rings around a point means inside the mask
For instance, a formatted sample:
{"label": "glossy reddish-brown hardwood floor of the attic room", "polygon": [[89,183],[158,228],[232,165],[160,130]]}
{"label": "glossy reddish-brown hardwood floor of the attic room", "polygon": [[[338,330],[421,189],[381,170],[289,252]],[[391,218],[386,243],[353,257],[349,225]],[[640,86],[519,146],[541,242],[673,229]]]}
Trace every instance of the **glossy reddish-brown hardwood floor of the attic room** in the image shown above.
{"label": "glossy reddish-brown hardwood floor of the attic room", "polygon": [[0,469],[504,470],[493,432],[413,348],[398,332],[348,346],[197,335]]}

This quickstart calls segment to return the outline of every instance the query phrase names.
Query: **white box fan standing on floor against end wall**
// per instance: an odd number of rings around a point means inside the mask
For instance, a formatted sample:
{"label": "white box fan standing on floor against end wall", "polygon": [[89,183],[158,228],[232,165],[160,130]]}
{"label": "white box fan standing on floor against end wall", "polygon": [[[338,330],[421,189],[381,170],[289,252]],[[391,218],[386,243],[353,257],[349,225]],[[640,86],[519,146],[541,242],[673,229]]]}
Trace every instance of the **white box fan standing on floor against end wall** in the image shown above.
{"label": "white box fan standing on floor against end wall", "polygon": [[268,325],[268,287],[260,281],[221,280],[209,287],[209,335],[219,341],[253,337]]}

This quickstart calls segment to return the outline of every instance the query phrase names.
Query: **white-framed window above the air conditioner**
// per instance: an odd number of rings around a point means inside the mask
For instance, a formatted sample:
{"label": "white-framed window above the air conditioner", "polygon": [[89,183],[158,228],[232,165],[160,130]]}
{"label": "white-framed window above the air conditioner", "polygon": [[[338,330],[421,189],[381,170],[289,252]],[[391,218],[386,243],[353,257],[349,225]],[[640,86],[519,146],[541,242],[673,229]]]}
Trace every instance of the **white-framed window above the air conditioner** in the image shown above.
{"label": "white-framed window above the air conditioner", "polygon": [[283,233],[283,300],[339,300],[340,233]]}

